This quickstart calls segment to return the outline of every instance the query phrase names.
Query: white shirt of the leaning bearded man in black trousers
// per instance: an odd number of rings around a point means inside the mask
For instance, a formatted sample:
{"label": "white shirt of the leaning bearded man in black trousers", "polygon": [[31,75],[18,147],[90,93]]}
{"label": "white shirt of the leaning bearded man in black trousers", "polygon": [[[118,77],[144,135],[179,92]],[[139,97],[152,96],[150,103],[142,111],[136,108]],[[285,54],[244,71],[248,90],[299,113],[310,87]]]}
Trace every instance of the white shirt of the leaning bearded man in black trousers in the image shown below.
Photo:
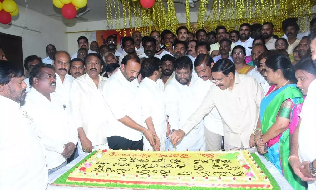
{"label": "white shirt of the leaning bearded man in black trousers", "polygon": [[120,136],[131,141],[139,141],[142,139],[141,132],[118,121],[118,119],[129,116],[137,124],[143,125],[138,79],[128,81],[120,68],[107,80],[103,90],[109,110],[106,136]]}

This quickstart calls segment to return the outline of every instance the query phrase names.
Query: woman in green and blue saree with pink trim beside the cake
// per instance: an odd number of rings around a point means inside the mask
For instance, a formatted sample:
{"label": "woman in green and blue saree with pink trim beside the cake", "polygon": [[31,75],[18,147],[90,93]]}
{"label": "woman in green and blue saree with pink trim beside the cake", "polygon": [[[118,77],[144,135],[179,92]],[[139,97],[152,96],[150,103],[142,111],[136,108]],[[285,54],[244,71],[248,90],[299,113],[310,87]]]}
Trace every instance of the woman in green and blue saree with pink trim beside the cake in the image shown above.
{"label": "woman in green and blue saree with pink trim beside the cake", "polygon": [[304,182],[295,175],[288,161],[289,142],[299,120],[303,95],[296,88],[295,70],[287,56],[273,54],[265,64],[265,76],[274,85],[260,104],[255,143],[258,152],[276,166],[295,190],[304,190]]}

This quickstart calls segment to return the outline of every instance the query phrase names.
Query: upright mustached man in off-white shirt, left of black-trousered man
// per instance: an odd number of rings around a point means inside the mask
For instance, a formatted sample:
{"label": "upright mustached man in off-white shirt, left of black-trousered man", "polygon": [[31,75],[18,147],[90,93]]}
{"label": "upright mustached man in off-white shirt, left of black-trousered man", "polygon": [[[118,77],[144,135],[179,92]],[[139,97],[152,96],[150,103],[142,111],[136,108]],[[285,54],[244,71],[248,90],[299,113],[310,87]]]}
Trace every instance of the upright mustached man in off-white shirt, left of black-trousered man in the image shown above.
{"label": "upright mustached man in off-white shirt, left of black-trousered man", "polygon": [[88,54],[84,66],[86,74],[76,78],[70,87],[69,108],[78,128],[79,155],[92,152],[93,149],[108,149],[108,113],[102,96],[107,78],[100,76],[101,59],[99,54]]}

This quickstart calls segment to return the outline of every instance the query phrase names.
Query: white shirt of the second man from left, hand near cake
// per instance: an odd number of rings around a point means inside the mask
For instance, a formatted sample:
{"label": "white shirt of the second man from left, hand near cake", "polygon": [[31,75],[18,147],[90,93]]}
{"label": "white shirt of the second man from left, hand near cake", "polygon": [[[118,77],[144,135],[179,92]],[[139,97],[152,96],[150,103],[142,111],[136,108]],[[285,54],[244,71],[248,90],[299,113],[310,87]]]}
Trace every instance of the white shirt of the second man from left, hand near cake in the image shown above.
{"label": "white shirt of the second man from left, hand near cake", "polygon": [[61,153],[67,143],[77,144],[78,131],[74,118],[64,109],[60,97],[51,93],[51,101],[32,88],[22,106],[32,118],[34,128],[46,149],[47,168],[52,169],[66,161]]}

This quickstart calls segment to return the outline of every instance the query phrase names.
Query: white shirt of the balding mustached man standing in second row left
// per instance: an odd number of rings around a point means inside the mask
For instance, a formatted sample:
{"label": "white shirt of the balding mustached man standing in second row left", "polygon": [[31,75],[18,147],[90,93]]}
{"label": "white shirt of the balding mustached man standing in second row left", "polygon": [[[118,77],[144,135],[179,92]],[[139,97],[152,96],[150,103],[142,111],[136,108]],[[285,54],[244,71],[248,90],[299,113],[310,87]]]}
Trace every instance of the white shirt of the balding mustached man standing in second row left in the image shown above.
{"label": "white shirt of the balding mustached man standing in second row left", "polygon": [[64,78],[64,83],[63,83],[59,75],[57,73],[55,74],[56,74],[56,89],[55,89],[56,95],[62,98],[64,105],[67,108],[67,106],[69,105],[70,85],[71,85],[71,82],[74,80],[74,77],[72,77],[69,74],[66,74]]}

